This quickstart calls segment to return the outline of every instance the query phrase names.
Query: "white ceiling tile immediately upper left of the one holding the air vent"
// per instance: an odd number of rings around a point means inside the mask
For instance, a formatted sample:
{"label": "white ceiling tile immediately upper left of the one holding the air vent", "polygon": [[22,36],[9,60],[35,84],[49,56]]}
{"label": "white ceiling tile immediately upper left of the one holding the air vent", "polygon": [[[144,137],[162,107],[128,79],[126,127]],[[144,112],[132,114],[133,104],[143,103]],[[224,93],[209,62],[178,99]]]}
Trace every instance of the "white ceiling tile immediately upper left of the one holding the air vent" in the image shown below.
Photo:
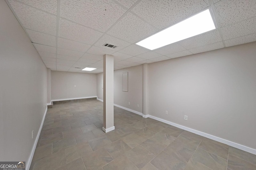
{"label": "white ceiling tile immediately upper left of the one holding the air vent", "polygon": [[94,44],[103,35],[103,33],[100,33],[99,31],[95,31],[62,18],[60,18],[58,33],[59,37],[90,45]]}

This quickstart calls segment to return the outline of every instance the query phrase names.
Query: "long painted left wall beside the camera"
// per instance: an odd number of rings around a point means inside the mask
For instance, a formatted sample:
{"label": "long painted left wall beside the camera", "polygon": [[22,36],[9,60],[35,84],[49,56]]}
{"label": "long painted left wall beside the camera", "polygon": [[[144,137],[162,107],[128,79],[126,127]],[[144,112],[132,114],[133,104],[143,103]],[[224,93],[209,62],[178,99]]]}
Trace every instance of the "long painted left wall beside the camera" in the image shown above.
{"label": "long painted left wall beside the camera", "polygon": [[28,166],[47,106],[47,70],[4,0],[0,16],[0,160]]}

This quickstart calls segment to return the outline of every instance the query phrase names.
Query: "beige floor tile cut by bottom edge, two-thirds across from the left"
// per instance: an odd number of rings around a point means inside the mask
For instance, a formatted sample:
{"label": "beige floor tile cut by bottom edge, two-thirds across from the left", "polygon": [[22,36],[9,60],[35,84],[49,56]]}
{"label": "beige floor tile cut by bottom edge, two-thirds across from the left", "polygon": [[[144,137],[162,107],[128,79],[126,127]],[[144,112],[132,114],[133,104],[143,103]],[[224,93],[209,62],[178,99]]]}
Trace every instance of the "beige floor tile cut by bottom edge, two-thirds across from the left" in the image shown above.
{"label": "beige floor tile cut by bottom edge, two-thirds across from the left", "polygon": [[172,155],[162,151],[151,162],[159,170],[184,170],[186,164]]}

